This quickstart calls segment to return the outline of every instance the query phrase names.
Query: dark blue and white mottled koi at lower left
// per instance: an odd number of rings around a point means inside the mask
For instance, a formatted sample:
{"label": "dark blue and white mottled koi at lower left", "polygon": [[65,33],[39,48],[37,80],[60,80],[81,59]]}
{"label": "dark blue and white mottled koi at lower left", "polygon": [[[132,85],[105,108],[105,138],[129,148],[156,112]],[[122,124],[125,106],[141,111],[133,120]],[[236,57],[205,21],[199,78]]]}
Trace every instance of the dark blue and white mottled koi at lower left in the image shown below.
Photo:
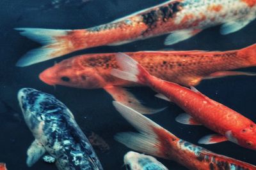
{"label": "dark blue and white mottled koi at lower left", "polygon": [[35,89],[20,89],[20,108],[35,137],[29,146],[31,167],[45,152],[56,159],[60,170],[102,169],[90,142],[67,106],[54,96]]}

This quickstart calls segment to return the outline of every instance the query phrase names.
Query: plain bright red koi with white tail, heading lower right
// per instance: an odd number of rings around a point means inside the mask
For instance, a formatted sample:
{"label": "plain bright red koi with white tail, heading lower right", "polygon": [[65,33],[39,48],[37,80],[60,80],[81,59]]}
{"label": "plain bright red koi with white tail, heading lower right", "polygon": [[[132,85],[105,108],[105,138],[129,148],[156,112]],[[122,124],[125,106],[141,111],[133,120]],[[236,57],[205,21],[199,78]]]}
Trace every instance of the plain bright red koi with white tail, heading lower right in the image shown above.
{"label": "plain bright red koi with white tail, heading lower right", "polygon": [[195,87],[188,89],[150,75],[138,62],[124,53],[119,53],[116,60],[123,71],[113,69],[111,74],[147,85],[159,92],[161,98],[172,101],[186,112],[176,118],[177,122],[204,125],[218,133],[200,139],[199,143],[210,144],[228,140],[256,150],[256,124],[252,120],[204,96]]}

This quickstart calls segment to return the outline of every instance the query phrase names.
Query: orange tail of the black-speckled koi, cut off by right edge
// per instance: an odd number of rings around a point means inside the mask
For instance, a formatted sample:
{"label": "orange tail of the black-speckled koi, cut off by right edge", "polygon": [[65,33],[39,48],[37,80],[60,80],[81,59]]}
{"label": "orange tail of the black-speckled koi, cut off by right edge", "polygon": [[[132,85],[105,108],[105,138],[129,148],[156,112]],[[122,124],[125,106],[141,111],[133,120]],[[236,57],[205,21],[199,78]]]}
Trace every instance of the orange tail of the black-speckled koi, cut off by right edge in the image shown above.
{"label": "orange tail of the black-speckled koi, cut off by right edge", "polygon": [[248,66],[256,66],[256,43],[238,51],[240,57],[246,58]]}

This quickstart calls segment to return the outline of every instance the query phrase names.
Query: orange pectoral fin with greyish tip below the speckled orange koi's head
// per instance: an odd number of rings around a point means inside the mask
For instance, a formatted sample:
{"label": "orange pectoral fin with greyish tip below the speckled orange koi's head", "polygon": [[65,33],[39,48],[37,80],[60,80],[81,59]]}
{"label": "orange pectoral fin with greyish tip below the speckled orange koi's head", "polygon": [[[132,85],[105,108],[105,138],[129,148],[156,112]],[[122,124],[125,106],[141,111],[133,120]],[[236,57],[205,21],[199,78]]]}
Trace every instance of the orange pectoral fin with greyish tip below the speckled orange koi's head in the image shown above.
{"label": "orange pectoral fin with greyish tip below the speckled orange koi's head", "polygon": [[131,92],[128,92],[122,87],[108,86],[104,89],[113,97],[113,99],[115,99],[115,101],[118,101],[142,114],[153,114],[164,110],[164,108],[154,109],[143,106],[140,101],[138,101],[138,99],[136,99],[136,97],[131,94]]}

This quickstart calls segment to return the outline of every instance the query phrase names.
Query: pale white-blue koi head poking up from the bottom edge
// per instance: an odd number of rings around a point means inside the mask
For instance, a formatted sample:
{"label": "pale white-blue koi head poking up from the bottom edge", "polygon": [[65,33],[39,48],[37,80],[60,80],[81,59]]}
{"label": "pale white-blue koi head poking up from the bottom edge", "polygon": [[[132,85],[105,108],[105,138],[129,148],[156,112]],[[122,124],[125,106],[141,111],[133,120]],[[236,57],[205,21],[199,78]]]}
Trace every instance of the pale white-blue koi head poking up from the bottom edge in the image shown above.
{"label": "pale white-blue koi head poking up from the bottom edge", "polygon": [[132,151],[124,155],[124,164],[127,170],[168,170],[154,157]]}

